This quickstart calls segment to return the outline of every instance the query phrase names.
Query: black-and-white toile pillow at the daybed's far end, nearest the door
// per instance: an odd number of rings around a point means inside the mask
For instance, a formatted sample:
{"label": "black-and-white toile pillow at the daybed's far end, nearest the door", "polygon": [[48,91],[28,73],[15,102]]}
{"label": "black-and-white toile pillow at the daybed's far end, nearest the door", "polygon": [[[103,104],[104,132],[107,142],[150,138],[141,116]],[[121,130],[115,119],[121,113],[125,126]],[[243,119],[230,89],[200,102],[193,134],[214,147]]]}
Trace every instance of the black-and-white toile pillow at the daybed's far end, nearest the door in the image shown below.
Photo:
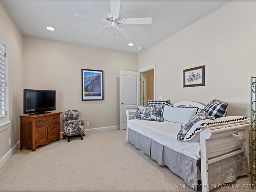
{"label": "black-and-white toile pillow at the daybed's far end, nearest the door", "polygon": [[164,121],[163,105],[160,106],[138,106],[133,119],[148,120],[148,121]]}

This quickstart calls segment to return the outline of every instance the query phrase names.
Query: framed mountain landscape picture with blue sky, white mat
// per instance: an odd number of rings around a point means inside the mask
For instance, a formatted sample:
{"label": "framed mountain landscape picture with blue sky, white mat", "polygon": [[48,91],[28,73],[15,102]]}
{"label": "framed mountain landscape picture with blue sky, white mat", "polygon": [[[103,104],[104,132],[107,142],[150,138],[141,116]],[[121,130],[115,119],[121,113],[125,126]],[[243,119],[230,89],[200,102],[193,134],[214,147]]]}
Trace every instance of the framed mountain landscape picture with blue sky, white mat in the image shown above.
{"label": "framed mountain landscape picture with blue sky, white mat", "polygon": [[82,101],[103,99],[103,71],[82,69]]}

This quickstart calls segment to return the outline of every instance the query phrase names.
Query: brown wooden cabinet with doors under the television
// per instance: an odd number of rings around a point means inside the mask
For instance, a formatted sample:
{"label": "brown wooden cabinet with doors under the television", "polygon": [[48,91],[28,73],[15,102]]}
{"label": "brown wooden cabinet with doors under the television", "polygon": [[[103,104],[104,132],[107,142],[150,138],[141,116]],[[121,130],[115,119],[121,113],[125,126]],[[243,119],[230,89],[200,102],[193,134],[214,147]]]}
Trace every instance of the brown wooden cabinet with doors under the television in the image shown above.
{"label": "brown wooden cabinet with doors under the television", "polygon": [[20,116],[20,150],[23,147],[36,150],[38,145],[45,145],[54,139],[60,140],[60,114],[50,112],[40,115]]}

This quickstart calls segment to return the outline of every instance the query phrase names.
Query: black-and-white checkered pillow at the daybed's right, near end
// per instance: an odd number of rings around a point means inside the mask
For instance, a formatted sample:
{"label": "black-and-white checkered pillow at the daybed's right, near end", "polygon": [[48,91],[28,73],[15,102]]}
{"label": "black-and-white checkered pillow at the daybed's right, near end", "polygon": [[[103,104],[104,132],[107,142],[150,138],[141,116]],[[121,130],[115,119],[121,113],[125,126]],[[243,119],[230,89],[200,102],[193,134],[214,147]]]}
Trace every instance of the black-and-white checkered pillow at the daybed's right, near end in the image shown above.
{"label": "black-and-white checkered pillow at the daybed's right, near end", "polygon": [[228,112],[227,106],[227,103],[220,103],[214,99],[204,107],[204,111],[211,116],[220,118],[226,116]]}

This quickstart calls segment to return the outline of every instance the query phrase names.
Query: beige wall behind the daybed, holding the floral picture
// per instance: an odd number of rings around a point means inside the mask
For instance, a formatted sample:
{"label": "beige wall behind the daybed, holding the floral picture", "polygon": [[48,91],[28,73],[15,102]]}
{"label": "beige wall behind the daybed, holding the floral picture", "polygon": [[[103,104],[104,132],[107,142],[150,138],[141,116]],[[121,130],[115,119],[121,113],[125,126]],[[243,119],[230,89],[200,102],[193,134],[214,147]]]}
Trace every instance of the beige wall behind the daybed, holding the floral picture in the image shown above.
{"label": "beige wall behind the daybed, holding the floral picture", "polygon": [[[228,103],[228,115],[250,116],[256,76],[256,1],[231,1],[140,53],[138,69],[156,64],[156,99]],[[206,86],[183,88],[182,70],[205,65]]]}

